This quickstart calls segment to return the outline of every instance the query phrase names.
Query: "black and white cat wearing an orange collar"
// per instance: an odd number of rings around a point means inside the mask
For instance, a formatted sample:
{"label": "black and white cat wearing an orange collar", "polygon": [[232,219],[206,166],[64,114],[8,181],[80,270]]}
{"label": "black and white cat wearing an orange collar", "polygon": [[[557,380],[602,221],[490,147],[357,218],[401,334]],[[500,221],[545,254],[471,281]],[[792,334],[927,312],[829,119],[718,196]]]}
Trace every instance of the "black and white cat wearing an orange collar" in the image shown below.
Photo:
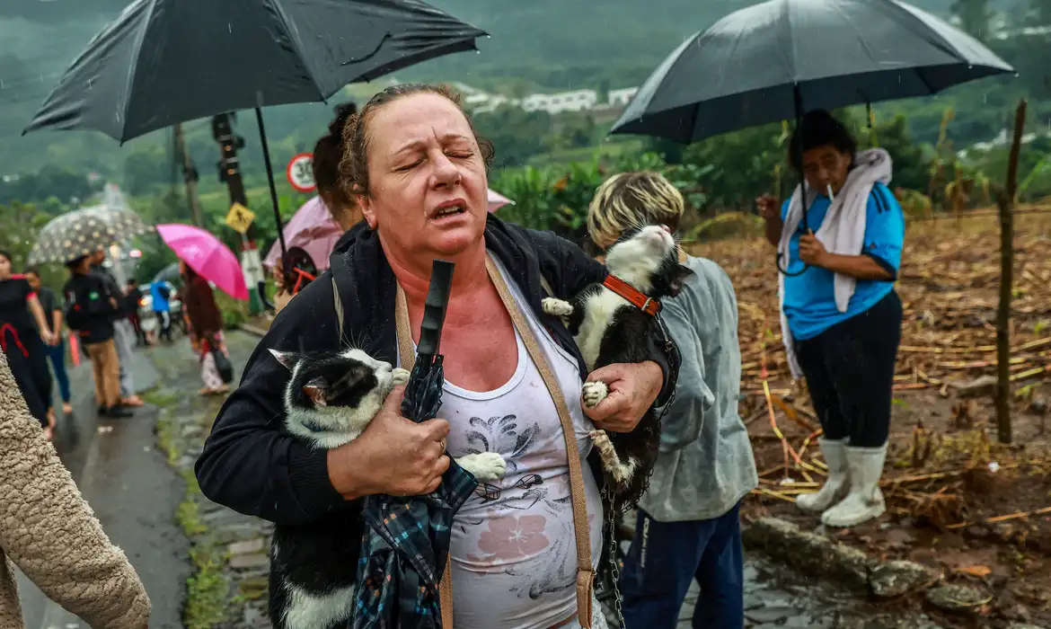
{"label": "black and white cat wearing an orange collar", "polygon": [[[606,252],[610,273],[648,298],[675,297],[691,272],[679,264],[675,238],[662,225],[625,231]],[[614,363],[654,360],[656,317],[642,311],[603,284],[588,286],[572,301],[548,298],[543,311],[562,318],[576,340],[589,371]],[[581,399],[595,407],[609,394],[603,382],[588,382]],[[592,430],[592,442],[602,459],[605,479],[616,505],[638,503],[653,473],[660,445],[660,420],[653,408],[628,433]]]}

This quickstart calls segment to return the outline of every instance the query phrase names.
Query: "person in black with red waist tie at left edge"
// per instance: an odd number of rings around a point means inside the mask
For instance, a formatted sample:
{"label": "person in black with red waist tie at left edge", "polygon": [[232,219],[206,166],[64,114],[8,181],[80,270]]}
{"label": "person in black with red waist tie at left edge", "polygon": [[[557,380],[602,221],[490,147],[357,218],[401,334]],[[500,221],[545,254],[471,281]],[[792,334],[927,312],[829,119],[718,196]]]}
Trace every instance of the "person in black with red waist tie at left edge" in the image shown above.
{"label": "person in black with red waist tie at left edge", "polygon": [[56,338],[40,299],[23,276],[12,273],[11,253],[0,250],[0,349],[7,357],[29,412],[50,439],[55,414],[44,343],[55,345]]}

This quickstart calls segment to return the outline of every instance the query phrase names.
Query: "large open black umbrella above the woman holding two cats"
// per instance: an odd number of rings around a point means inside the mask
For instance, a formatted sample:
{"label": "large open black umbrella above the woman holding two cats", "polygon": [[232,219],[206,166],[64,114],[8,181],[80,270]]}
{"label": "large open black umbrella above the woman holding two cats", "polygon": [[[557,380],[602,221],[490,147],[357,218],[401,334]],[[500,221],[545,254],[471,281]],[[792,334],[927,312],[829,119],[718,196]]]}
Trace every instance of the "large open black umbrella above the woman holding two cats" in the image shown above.
{"label": "large open black umbrella above the woman holding two cats", "polygon": [[136,0],[66,70],[23,134],[95,129],[121,143],[255,109],[282,253],[261,107],[324,101],[442,55],[483,31],[418,0]]}

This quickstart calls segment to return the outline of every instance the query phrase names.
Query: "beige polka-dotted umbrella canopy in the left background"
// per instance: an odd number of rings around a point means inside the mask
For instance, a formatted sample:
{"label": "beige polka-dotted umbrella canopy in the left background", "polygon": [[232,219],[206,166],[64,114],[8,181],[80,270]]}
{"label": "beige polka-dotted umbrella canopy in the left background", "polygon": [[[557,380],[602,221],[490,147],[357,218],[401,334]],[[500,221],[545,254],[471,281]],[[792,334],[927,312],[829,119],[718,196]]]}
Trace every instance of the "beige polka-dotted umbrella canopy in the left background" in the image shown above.
{"label": "beige polka-dotted umbrella canopy in the left background", "polygon": [[85,207],[44,225],[29,251],[28,263],[64,264],[152,229],[130,210],[104,205]]}

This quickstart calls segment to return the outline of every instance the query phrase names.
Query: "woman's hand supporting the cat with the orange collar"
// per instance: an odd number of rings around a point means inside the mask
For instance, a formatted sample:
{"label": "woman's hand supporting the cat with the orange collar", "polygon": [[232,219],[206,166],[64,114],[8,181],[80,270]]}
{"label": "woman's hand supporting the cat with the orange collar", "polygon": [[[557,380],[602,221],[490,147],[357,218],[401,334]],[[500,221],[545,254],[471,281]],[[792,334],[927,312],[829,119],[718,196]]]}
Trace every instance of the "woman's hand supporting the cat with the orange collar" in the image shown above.
{"label": "woman's hand supporting the cat with the orange collar", "polygon": [[592,371],[588,382],[596,381],[604,382],[610,393],[594,408],[584,406],[584,414],[603,430],[631,432],[660,393],[664,373],[653,361],[617,363]]}

